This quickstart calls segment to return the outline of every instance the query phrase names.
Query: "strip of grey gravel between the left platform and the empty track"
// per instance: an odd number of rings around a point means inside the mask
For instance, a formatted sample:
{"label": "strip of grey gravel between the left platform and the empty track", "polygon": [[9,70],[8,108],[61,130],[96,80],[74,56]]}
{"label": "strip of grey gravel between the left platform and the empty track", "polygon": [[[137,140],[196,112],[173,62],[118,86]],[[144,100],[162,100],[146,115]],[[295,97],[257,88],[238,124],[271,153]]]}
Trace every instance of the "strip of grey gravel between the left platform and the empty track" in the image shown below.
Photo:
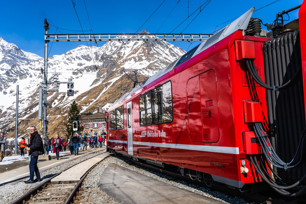
{"label": "strip of grey gravel between the left platform and the empty track", "polygon": [[[46,171],[40,172],[40,176],[43,179],[43,181],[45,181],[46,179],[54,176],[55,174],[64,171],[65,169],[76,165],[88,158],[94,157],[98,154],[101,154],[105,152],[105,150],[96,152],[96,153],[91,153],[88,154],[86,156],[74,159],[72,161],[68,161],[65,162],[64,164],[58,165],[52,169],[48,169]],[[25,179],[25,180],[28,180]],[[41,182],[36,182],[34,184],[25,184],[24,181],[21,181],[17,184],[6,184],[3,186],[0,186],[0,203],[2,204],[7,204],[10,202],[13,202],[13,200],[17,199],[18,197],[20,197],[21,195],[24,195],[26,192],[30,191],[31,189],[35,188],[36,186],[38,186]]]}

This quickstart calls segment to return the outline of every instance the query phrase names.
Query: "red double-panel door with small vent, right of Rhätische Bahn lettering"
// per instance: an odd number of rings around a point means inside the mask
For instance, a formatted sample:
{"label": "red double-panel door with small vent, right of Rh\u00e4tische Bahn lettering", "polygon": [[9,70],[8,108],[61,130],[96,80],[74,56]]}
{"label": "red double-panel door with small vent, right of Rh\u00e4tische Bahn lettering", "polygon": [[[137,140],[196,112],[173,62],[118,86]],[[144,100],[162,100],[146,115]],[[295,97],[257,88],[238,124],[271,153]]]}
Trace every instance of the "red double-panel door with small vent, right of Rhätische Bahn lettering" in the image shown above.
{"label": "red double-panel door with small vent, right of Rh\u00e4tische Bahn lettering", "polygon": [[217,142],[220,138],[216,73],[208,70],[187,83],[189,137],[193,142]]}

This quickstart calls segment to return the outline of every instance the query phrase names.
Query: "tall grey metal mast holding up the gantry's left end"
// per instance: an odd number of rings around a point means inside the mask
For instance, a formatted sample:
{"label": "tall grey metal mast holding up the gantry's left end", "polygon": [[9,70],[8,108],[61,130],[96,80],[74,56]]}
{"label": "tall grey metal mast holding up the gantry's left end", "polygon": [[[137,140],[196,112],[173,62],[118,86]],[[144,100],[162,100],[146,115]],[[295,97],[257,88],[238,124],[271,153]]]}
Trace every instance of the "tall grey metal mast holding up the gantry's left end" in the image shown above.
{"label": "tall grey metal mast holding up the gantry's left end", "polygon": [[48,30],[49,24],[47,19],[45,19],[45,56],[44,56],[44,72],[43,72],[43,144],[46,143],[47,136],[47,87],[48,87]]}

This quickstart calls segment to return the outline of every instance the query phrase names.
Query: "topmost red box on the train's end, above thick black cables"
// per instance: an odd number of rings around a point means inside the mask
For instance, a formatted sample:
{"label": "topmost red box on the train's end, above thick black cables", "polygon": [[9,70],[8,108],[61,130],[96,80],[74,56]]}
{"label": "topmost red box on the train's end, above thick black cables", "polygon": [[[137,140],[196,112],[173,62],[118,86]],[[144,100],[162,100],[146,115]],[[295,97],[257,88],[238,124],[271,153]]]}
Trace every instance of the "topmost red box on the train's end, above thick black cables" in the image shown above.
{"label": "topmost red box on the train's end, above thick black cables", "polygon": [[253,41],[235,41],[236,60],[255,59],[255,46]]}

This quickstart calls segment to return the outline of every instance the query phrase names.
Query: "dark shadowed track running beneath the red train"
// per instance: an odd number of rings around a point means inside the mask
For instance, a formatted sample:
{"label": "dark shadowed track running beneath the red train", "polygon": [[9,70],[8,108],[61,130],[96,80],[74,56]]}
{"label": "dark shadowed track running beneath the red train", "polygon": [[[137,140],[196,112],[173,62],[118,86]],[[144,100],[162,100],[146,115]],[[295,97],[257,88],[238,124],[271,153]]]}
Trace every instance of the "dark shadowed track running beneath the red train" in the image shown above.
{"label": "dark shadowed track running beneath the red train", "polygon": [[[167,176],[171,176],[171,177],[177,178],[179,180],[184,180],[184,181],[187,181],[188,183],[191,183],[191,184],[196,184],[196,185],[207,187],[205,182],[202,181],[202,180],[191,180],[189,177],[182,176],[181,174],[177,174],[177,173],[165,170],[165,169],[160,168],[158,166],[143,163],[141,161],[136,161],[136,160],[133,160],[132,158],[128,158],[128,157],[125,157],[125,156],[122,156],[122,157],[129,160],[132,163],[135,163],[137,165],[140,165],[141,167],[153,170],[155,172],[162,172],[163,174],[165,174]],[[275,193],[274,191],[268,191],[268,192],[264,192],[264,193],[251,193],[249,191],[240,191],[238,189],[234,189],[234,188],[223,186],[223,185],[213,185],[213,186],[208,187],[208,188],[210,188],[211,190],[214,190],[214,191],[221,191],[223,193],[226,193],[226,194],[234,196],[234,197],[235,196],[242,197],[249,202],[255,202],[255,203],[267,203],[267,204],[273,204],[273,203],[301,204],[301,203],[305,203],[305,199],[302,198],[302,197],[288,198],[288,197],[285,197],[285,196],[280,196],[279,194]]]}

